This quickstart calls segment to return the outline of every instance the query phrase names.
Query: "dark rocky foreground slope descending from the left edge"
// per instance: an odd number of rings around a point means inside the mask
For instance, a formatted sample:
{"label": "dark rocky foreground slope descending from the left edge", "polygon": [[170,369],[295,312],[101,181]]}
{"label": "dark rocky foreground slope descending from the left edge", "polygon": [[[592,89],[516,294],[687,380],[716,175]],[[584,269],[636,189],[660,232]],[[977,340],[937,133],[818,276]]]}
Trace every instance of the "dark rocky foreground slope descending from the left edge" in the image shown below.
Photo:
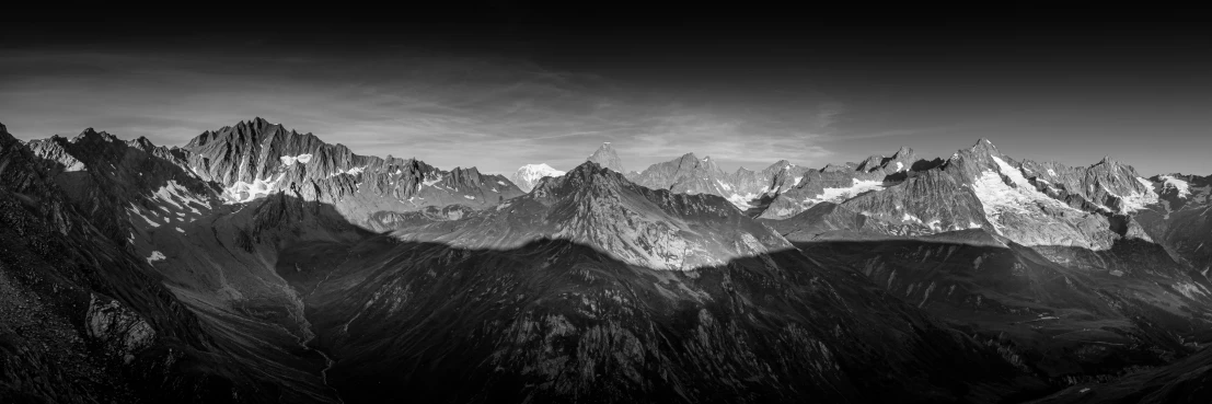
{"label": "dark rocky foreground slope descending from the left edge", "polygon": [[[84,136],[74,143],[36,146],[42,154],[91,144],[93,153],[72,154],[84,170],[61,171],[73,166],[63,165],[70,161],[64,154],[45,160],[0,125],[0,244],[5,245],[0,400],[189,403],[276,397],[276,383],[217,348],[154,269],[120,244],[125,232],[119,238],[107,234],[116,229],[105,226],[116,226],[113,220],[124,216],[125,204],[86,201],[61,188],[64,173],[87,172],[90,177],[81,177],[85,184],[93,182],[91,176],[121,176],[132,167],[149,169],[144,176],[161,173],[127,144],[92,131]],[[103,192],[138,189],[131,187]],[[96,184],[86,188],[102,192]],[[139,192],[128,195],[150,198]]]}

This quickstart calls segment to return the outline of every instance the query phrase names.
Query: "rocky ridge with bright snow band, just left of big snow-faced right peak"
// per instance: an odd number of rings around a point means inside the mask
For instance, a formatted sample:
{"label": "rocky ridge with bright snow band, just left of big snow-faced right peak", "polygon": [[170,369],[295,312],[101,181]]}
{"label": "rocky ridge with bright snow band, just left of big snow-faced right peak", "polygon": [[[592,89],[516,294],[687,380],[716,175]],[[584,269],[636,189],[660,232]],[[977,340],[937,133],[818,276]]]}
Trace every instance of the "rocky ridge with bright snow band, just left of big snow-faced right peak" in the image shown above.
{"label": "rocky ridge with bright snow band, just left of big snow-faced right peak", "polygon": [[862,163],[827,165],[807,170],[802,180],[785,189],[761,212],[762,218],[787,218],[821,203],[842,203],[904,181],[917,164],[913,149],[903,147],[891,158],[871,155]]}

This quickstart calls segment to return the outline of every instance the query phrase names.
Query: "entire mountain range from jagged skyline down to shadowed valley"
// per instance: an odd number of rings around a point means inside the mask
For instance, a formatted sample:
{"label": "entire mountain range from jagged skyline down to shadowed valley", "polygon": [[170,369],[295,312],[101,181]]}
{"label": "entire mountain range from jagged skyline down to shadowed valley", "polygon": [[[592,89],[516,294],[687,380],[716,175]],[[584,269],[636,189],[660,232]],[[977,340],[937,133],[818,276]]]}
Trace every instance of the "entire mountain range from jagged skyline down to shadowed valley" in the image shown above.
{"label": "entire mountain range from jagged skyline down to shadowed valley", "polygon": [[1207,402],[1212,176],[0,125],[4,402]]}

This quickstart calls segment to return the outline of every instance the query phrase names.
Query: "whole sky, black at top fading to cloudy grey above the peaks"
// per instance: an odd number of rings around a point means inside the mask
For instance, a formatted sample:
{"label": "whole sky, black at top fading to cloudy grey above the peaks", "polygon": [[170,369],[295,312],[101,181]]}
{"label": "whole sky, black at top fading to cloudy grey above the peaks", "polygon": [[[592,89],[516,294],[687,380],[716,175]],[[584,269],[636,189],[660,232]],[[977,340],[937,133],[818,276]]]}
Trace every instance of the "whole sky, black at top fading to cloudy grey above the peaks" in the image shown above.
{"label": "whole sky, black at top fading to cloudy grey above the peaks", "polygon": [[685,153],[734,170],[902,146],[945,158],[979,138],[1017,159],[1212,173],[1212,24],[1194,10],[458,7],[17,22],[0,34],[0,123],[182,146],[261,116],[498,173],[568,170],[602,142],[628,170]]}

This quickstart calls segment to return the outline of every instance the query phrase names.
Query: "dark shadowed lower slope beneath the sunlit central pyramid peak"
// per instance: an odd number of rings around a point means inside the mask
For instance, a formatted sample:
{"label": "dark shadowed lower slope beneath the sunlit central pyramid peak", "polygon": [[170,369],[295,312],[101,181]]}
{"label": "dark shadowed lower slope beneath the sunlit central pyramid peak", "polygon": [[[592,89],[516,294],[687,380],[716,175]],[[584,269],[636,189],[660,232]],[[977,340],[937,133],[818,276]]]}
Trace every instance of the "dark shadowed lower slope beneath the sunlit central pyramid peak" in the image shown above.
{"label": "dark shadowed lower slope beneath the sunlit central pyramid peak", "polygon": [[336,359],[324,376],[348,403],[999,402],[1052,389],[794,249],[669,272],[542,237],[508,250],[292,239],[339,214],[286,195],[256,211],[253,243],[276,246],[311,346]]}

